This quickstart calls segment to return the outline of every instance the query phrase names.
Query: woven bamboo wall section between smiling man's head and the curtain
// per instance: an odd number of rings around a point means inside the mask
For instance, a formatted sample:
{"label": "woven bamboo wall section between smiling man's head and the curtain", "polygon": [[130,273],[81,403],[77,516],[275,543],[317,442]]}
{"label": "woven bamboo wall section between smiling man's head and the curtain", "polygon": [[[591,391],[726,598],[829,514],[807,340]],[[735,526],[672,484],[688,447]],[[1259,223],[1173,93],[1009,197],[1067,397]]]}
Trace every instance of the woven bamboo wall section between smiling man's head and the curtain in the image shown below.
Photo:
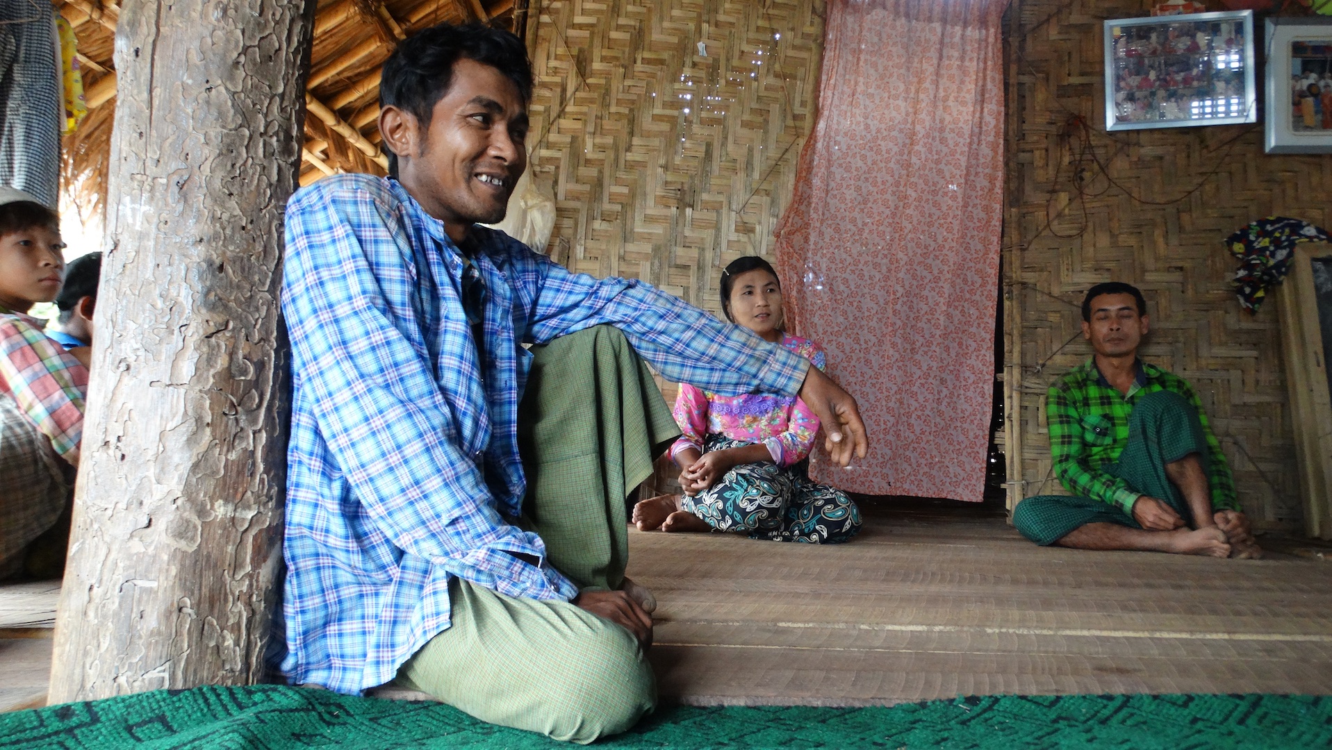
{"label": "woven bamboo wall section between smiling man's head and the curtain", "polygon": [[718,312],[721,269],[771,257],[814,123],[823,1],[533,0],[530,13],[551,257]]}

